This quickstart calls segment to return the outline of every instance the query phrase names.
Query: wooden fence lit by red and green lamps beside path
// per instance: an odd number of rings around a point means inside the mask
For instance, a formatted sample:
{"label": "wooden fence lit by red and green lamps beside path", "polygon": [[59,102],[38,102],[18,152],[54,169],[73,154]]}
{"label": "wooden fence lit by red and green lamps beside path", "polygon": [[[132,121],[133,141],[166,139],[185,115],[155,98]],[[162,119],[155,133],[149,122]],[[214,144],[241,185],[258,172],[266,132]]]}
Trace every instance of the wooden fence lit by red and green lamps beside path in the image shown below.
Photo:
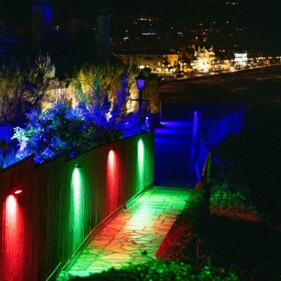
{"label": "wooden fence lit by red and green lamps beside path", "polygon": [[0,280],[46,280],[93,228],[153,184],[153,171],[150,132],[72,160],[62,155],[35,167],[26,158],[1,172]]}

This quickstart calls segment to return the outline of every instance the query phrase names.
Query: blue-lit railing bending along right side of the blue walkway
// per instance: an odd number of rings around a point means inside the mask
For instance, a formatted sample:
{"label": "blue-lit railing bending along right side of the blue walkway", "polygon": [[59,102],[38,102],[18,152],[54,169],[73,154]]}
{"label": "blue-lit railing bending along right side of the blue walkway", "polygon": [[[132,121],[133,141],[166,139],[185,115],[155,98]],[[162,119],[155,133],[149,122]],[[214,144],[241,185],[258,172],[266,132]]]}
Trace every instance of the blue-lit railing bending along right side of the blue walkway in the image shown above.
{"label": "blue-lit railing bending along right side of the blue walkway", "polygon": [[[211,168],[211,150],[231,133],[239,133],[244,123],[244,106],[238,104],[236,111],[228,112],[221,119],[200,132],[199,157],[196,162],[199,182],[209,181]],[[208,182],[209,183],[209,182]]]}

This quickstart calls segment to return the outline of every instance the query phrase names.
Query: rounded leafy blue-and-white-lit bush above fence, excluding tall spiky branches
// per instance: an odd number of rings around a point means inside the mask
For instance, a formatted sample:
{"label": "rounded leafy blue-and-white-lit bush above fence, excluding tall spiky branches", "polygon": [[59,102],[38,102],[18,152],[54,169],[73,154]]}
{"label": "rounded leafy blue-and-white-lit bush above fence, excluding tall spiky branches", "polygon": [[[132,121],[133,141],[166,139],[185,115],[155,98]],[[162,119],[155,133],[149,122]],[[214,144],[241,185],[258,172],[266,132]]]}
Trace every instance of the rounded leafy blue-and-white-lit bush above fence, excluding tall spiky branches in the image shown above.
{"label": "rounded leafy blue-and-white-lit bush above fence, excluding tall spiky branches", "polygon": [[121,137],[121,131],[101,126],[94,109],[85,104],[76,109],[57,104],[43,113],[32,111],[27,116],[26,127],[15,128],[13,136],[19,142],[19,159],[35,153],[35,162],[41,163],[57,155],[80,153]]}

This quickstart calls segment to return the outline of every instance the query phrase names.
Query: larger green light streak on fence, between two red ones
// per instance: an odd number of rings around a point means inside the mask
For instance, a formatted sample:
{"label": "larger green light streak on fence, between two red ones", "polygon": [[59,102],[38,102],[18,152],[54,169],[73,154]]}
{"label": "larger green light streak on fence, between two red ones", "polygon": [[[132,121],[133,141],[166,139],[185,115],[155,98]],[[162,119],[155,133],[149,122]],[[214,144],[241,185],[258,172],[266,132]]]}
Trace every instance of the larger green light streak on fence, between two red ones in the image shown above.
{"label": "larger green light streak on fence, between two red ones", "polygon": [[72,251],[77,250],[78,246],[84,239],[83,230],[83,197],[82,197],[82,175],[81,166],[76,166],[72,172],[72,209],[71,223],[72,223]]}

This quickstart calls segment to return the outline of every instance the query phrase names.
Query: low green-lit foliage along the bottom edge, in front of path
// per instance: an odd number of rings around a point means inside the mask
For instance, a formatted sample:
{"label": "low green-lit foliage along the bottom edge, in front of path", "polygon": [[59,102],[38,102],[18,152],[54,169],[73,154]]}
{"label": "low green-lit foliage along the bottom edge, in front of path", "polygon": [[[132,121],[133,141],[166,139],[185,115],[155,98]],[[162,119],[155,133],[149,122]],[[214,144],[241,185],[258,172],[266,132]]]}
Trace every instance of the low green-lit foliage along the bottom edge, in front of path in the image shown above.
{"label": "low green-lit foliage along the bottom edge, in front of path", "polygon": [[79,278],[73,280],[95,280],[95,281],[172,281],[172,280],[239,280],[233,272],[226,272],[223,268],[195,268],[185,263],[177,263],[175,261],[153,260],[152,262],[140,265],[129,265],[120,270],[109,270],[101,272],[90,277]]}

